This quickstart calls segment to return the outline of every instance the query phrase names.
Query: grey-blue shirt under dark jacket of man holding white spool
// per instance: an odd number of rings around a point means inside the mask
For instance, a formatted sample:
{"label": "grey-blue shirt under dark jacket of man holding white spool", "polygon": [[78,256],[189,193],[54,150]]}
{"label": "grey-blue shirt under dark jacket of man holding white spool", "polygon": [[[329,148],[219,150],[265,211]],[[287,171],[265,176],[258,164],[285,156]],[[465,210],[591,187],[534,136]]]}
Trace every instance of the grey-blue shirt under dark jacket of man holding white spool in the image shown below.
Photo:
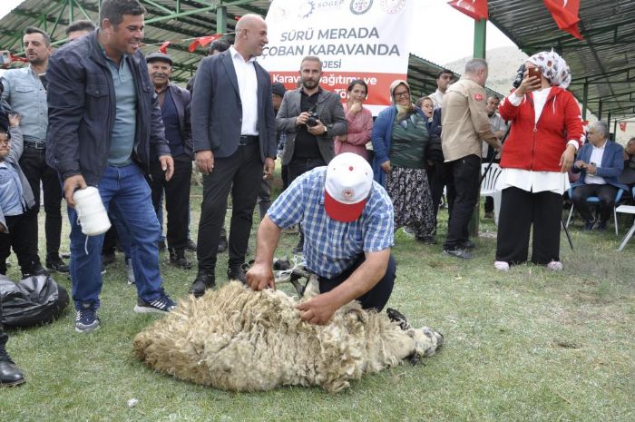
{"label": "grey-blue shirt under dark jacket of man holding white spool", "polygon": [[116,102],[108,165],[121,167],[132,162],[131,154],[137,124],[137,92],[125,55],[122,55],[119,67],[108,57],[106,63],[112,74]]}

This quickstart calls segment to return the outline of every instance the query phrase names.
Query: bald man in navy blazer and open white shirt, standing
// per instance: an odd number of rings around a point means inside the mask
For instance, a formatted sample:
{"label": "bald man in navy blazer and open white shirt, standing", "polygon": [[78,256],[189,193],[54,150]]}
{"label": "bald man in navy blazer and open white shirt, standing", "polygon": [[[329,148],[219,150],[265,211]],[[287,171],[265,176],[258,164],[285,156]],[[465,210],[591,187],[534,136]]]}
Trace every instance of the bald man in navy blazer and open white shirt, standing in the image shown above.
{"label": "bald man in navy blazer and open white shirt, standing", "polygon": [[199,272],[190,293],[215,285],[220,227],[231,190],[228,278],[246,282],[244,263],[260,181],[273,173],[276,121],[269,74],[256,57],[269,43],[259,15],[244,15],[229,50],[200,61],[191,106],[196,165],[203,173],[200,205]]}

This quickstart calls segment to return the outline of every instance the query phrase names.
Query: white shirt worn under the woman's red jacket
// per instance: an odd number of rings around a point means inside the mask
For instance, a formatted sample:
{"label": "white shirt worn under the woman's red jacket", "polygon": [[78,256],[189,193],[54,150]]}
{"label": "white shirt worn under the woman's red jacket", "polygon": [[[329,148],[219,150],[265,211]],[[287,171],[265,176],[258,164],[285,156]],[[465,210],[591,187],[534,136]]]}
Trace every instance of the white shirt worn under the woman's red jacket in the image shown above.
{"label": "white shirt worn under the woman's red jacket", "polygon": [[[547,97],[552,88],[542,89],[540,91],[534,91],[533,94],[533,109],[535,110],[535,122],[538,123],[538,119],[544,108],[544,104],[547,102]],[[520,105],[523,101],[523,97],[519,97],[515,93],[510,93],[507,96],[507,101],[513,103],[513,105]],[[577,141],[569,141],[567,144],[573,145],[575,149],[578,149]],[[552,191],[562,195],[564,191],[567,191],[571,184],[569,183],[569,174],[561,172],[533,172],[531,170],[521,169],[503,169],[501,173],[503,184],[501,189],[509,188],[513,186],[523,191],[531,191],[533,193],[542,191]]]}

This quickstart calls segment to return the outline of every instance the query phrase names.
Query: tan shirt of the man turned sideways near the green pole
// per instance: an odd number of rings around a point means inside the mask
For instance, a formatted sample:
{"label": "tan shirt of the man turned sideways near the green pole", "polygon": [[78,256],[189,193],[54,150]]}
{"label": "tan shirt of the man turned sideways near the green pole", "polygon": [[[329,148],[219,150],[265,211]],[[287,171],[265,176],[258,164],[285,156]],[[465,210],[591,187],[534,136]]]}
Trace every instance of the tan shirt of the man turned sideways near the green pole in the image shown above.
{"label": "tan shirt of the man turned sideways near the green pole", "polygon": [[447,89],[441,112],[441,146],[445,162],[454,162],[470,154],[480,157],[481,140],[498,147],[498,139],[490,130],[486,100],[483,87],[470,79],[462,78]]}

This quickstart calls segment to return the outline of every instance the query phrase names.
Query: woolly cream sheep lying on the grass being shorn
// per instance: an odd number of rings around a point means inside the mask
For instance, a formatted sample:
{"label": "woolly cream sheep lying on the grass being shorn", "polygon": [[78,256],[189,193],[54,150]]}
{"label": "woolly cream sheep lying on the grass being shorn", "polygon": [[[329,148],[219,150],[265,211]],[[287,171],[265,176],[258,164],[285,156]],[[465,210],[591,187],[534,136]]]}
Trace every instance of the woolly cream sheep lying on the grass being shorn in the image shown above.
{"label": "woolly cream sheep lying on the grass being shorn", "polygon": [[[313,280],[305,299],[315,294]],[[200,299],[181,300],[136,335],[135,354],[161,373],[224,390],[319,386],[337,392],[350,379],[404,358],[433,356],[443,342],[432,329],[412,329],[405,319],[391,321],[357,301],[325,326],[302,321],[297,304],[281,290],[230,282]]]}

